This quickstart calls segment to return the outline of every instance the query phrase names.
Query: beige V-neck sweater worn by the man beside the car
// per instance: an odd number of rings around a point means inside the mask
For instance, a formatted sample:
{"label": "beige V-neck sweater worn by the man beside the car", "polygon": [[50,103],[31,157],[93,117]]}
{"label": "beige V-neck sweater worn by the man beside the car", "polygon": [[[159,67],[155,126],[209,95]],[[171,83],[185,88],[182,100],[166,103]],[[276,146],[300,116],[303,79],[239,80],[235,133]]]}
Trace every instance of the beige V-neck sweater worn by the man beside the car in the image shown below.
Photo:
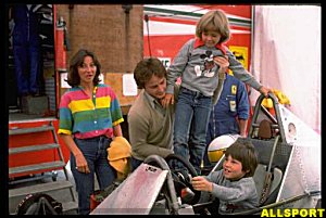
{"label": "beige V-neck sweater worn by the man beside the car", "polygon": [[[178,87],[175,89],[177,94]],[[174,105],[163,108],[145,90],[140,91],[128,113],[133,157],[143,161],[152,154],[165,157],[173,153]]]}

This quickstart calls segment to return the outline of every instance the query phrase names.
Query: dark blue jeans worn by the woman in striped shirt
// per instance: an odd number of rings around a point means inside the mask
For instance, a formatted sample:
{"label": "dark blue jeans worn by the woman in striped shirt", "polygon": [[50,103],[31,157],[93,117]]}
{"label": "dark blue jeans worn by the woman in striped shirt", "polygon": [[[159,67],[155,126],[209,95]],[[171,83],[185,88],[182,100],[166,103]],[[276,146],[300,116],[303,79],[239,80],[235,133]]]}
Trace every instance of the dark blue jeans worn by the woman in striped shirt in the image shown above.
{"label": "dark blue jeans worn by the woman in striped shirt", "polygon": [[106,152],[112,139],[101,136],[91,139],[75,138],[74,141],[84,154],[90,170],[90,174],[79,172],[76,169],[75,156],[71,153],[71,170],[78,193],[78,210],[80,215],[88,215],[90,213],[90,195],[95,191],[95,174],[100,190],[109,187],[116,178],[116,171],[109,164]]}

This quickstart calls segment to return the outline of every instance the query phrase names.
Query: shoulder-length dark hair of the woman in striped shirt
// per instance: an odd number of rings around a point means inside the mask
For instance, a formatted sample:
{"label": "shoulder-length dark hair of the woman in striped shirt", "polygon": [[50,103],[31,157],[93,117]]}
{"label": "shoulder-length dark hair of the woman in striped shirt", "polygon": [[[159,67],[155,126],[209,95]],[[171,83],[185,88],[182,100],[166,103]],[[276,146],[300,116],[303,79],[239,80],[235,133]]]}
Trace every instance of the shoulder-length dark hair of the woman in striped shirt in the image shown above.
{"label": "shoulder-length dark hair of the woman in striped shirt", "polygon": [[97,56],[91,51],[88,51],[86,49],[80,49],[79,51],[77,51],[77,53],[71,60],[70,72],[68,72],[67,80],[66,80],[71,87],[76,87],[76,86],[80,85],[78,67],[83,66],[84,59],[86,56],[90,56],[93,61],[93,64],[97,66],[96,76],[93,77],[93,80],[92,80],[93,85],[97,86],[101,81],[99,79],[99,76],[101,74],[101,64],[98,61]]}

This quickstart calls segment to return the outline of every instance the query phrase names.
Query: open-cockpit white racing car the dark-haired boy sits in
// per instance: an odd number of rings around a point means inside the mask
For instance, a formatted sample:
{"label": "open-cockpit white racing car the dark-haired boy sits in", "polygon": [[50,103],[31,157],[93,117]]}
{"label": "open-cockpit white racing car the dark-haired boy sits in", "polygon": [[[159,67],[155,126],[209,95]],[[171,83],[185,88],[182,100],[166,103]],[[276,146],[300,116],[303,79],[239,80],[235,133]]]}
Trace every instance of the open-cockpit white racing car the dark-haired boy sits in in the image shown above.
{"label": "open-cockpit white racing car the dark-haired boy sits in", "polygon": [[[321,136],[302,123],[285,106],[269,97],[275,114],[261,105],[259,97],[248,138],[259,156],[259,166],[253,176],[260,197],[259,207],[233,215],[281,216],[286,209],[321,207]],[[268,123],[266,137],[260,134]],[[264,125],[263,125],[264,124]],[[265,131],[266,132],[266,131]],[[212,171],[222,168],[224,156]],[[180,175],[173,168],[180,162],[188,174]],[[163,214],[201,215],[214,214],[218,201],[201,202],[201,192],[195,191],[191,177],[197,172],[191,164],[177,155],[165,159],[151,155],[130,174],[91,215],[103,214]],[[272,213],[272,214],[271,214]],[[287,211],[290,213],[290,211]],[[291,215],[291,214],[288,214]]]}

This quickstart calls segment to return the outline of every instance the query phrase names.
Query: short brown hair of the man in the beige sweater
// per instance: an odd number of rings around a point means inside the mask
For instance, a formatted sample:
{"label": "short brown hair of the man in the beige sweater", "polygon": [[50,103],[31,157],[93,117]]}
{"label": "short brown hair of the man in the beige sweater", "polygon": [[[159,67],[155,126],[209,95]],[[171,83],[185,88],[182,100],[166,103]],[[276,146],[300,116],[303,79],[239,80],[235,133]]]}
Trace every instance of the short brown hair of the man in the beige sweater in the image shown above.
{"label": "short brown hair of the man in the beige sweater", "polygon": [[150,57],[138,62],[134,70],[134,79],[138,89],[143,89],[146,82],[148,82],[153,75],[159,78],[166,78],[166,69],[159,59]]}

